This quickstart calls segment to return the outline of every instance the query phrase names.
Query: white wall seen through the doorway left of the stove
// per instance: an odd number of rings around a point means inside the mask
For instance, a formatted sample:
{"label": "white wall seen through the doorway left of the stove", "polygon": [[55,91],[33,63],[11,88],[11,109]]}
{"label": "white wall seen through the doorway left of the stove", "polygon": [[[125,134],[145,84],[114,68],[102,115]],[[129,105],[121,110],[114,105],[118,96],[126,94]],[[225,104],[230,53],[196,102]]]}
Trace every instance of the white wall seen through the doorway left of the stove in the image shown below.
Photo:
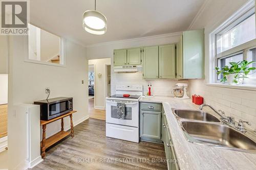
{"label": "white wall seen through the doorway left of the stove", "polygon": [[[94,108],[105,109],[106,94],[106,65],[110,65],[110,58],[89,60],[88,64],[94,64]],[[102,76],[99,78],[98,74]]]}

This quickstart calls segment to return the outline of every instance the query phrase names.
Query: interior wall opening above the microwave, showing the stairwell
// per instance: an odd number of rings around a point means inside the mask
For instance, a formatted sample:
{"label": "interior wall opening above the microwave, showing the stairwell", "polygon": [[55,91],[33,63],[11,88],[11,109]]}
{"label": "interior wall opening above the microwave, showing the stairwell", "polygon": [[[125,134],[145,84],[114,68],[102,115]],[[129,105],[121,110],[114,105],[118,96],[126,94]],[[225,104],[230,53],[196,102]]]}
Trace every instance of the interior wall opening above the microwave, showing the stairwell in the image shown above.
{"label": "interior wall opening above the microwave, showing the stairwell", "polygon": [[63,65],[61,37],[28,25],[28,60],[30,62]]}

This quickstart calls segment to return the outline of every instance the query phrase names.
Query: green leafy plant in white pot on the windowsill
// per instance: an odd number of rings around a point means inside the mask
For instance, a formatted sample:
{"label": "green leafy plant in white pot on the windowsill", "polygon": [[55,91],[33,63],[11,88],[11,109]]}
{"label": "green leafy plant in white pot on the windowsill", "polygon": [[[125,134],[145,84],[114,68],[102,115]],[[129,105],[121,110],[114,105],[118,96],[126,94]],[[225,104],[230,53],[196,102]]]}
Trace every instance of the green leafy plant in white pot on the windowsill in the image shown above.
{"label": "green leafy plant in white pot on the windowsill", "polygon": [[[225,83],[226,81],[228,84],[242,84],[245,78],[250,75],[252,70],[255,70],[255,67],[249,67],[250,64],[254,63],[255,61],[248,62],[246,60],[239,61],[239,62],[229,62],[231,65],[230,67],[225,65],[222,68],[215,67],[217,70],[217,75],[223,75],[221,82]],[[251,74],[253,74],[252,72]]]}

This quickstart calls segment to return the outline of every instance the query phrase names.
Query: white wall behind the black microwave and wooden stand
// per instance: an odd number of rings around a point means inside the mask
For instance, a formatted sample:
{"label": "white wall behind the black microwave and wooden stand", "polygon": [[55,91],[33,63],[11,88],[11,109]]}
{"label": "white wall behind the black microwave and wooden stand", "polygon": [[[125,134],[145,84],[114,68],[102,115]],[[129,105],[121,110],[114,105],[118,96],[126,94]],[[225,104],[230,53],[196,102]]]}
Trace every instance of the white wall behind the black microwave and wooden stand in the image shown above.
{"label": "white wall behind the black microwave and wooden stand", "polygon": [[[45,88],[51,89],[50,98],[58,96],[73,97],[74,125],[89,117],[88,114],[88,61],[86,48],[66,40],[67,66],[51,66],[24,62],[28,48],[27,36],[12,36],[10,38],[10,68],[8,89],[8,122],[14,119],[13,105],[44,100],[47,98]],[[84,84],[81,81],[84,80]],[[8,124],[8,129],[13,125]],[[70,128],[70,119],[64,120],[65,130]],[[61,129],[60,121],[47,125],[46,136],[49,137]],[[19,133],[19,132],[16,132]],[[8,134],[10,137],[15,134]],[[17,141],[17,147],[18,145]],[[9,151],[8,151],[9,152]],[[12,158],[15,159],[15,158]],[[10,162],[11,163],[11,160]]]}

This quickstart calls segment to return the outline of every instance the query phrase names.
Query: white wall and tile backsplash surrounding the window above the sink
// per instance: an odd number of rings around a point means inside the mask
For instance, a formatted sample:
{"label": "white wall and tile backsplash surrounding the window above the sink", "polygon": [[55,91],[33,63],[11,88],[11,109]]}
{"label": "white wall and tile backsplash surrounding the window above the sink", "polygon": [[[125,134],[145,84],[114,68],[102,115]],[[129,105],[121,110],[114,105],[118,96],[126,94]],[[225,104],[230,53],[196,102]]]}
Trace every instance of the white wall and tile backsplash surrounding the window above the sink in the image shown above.
{"label": "white wall and tile backsplash surrounding the window above the sink", "polygon": [[227,115],[248,120],[256,129],[256,91],[206,86],[209,63],[209,33],[236,12],[245,0],[209,1],[191,29],[205,28],[205,80],[189,80],[190,93],[204,97],[204,102],[223,110]]}

